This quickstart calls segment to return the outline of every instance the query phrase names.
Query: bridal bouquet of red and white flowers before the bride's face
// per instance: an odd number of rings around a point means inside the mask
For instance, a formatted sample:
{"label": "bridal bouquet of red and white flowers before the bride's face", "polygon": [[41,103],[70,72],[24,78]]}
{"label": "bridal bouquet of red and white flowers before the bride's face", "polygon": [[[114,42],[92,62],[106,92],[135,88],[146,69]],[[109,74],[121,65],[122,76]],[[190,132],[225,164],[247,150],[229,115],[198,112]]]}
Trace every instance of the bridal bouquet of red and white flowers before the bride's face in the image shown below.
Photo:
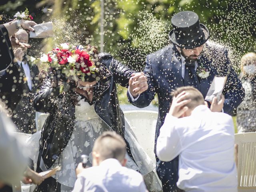
{"label": "bridal bouquet of red and white flowers before the bride's face", "polygon": [[93,54],[68,43],[62,43],[47,55],[43,54],[40,62],[48,64],[50,70],[60,70],[65,77],[75,81],[86,81],[90,76],[99,80],[99,68],[93,60]]}

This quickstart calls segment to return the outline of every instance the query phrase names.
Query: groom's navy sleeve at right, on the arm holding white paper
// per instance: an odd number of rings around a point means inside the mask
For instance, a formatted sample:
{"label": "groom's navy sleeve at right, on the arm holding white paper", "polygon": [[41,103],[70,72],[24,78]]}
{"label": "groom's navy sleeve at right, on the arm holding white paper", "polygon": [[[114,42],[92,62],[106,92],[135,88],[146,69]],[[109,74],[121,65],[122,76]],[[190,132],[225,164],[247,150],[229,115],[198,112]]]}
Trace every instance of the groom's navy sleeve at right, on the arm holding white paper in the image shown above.
{"label": "groom's navy sleeve at right, on the arm holding white paper", "polygon": [[225,97],[223,110],[232,116],[236,115],[236,108],[244,100],[245,92],[242,82],[239,80],[234,68],[230,64],[228,51],[225,50],[227,66],[227,82],[225,84],[223,95]]}

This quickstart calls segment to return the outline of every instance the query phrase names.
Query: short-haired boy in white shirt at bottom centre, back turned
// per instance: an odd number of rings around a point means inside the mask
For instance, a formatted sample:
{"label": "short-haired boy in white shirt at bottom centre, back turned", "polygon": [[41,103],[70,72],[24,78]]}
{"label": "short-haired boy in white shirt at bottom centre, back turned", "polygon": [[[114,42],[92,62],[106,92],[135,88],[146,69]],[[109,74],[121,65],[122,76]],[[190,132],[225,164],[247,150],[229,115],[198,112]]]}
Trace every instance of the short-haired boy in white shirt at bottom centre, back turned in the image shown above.
{"label": "short-haired boy in white shirt at bottom centre, back turned", "polygon": [[116,132],[104,132],[94,142],[92,167],[76,168],[73,192],[147,192],[142,175],[125,167],[126,143]]}

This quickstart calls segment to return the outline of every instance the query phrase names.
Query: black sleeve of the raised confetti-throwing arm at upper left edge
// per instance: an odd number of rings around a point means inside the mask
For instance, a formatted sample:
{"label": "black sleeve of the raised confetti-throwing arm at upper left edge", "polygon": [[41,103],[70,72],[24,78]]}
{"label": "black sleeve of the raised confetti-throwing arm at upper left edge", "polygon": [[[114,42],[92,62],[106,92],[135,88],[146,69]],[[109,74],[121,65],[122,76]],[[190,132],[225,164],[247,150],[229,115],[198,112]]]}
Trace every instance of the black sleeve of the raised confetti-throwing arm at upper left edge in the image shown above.
{"label": "black sleeve of the raised confetti-throwing arm at upper left edge", "polygon": [[0,25],[0,74],[12,63],[14,54],[9,34],[4,25]]}

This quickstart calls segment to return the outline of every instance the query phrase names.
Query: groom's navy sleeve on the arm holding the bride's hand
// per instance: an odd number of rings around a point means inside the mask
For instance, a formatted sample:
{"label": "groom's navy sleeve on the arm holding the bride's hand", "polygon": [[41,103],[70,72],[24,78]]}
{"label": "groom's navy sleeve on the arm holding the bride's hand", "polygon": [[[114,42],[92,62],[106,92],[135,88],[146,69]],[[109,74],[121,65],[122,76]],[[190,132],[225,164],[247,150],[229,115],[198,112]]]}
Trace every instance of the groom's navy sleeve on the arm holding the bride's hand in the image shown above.
{"label": "groom's navy sleeve on the arm holding the bride's hand", "polygon": [[156,85],[154,83],[153,70],[152,70],[149,56],[147,56],[146,58],[146,66],[144,68],[144,74],[146,75],[148,80],[148,90],[140,94],[138,99],[134,102],[132,102],[132,98],[130,98],[130,95],[127,92],[129,102],[138,108],[144,108],[146,106],[149,106],[150,102],[154,99],[154,96],[156,94],[156,91],[155,91]]}

